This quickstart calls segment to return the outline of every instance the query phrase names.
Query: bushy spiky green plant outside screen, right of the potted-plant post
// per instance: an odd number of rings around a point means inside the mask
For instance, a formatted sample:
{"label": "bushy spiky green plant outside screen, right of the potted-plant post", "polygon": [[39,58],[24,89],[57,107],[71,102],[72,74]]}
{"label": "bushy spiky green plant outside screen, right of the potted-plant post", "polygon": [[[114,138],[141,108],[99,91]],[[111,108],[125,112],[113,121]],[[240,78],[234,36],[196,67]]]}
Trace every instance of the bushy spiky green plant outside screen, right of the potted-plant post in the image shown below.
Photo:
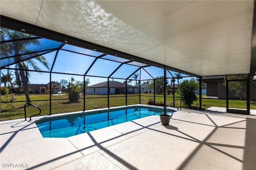
{"label": "bushy spiky green plant outside screen, right of the potted-plant post", "polygon": [[196,102],[198,87],[198,82],[194,80],[184,80],[180,83],[178,91],[181,100],[186,107],[190,107],[194,102]]}

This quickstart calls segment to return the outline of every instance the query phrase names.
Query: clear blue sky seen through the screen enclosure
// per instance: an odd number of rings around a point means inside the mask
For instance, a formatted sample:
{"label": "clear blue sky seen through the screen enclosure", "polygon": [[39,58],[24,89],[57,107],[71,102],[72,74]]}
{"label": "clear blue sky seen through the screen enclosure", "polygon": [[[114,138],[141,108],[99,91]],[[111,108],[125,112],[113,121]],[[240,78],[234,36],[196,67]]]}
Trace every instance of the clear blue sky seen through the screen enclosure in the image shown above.
{"label": "clear blue sky seen through the screen enclosure", "polygon": [[[51,48],[57,48],[61,45],[61,43],[48,40],[48,39],[39,39],[40,45],[30,45],[27,47],[30,51],[40,51],[40,50],[48,50]],[[62,50],[63,49],[63,50]],[[91,64],[94,62],[96,57],[103,55],[103,53],[92,51],[88,49],[84,49],[81,47],[76,47],[72,45],[64,45],[61,50],[58,51],[58,55],[54,62],[54,57],[56,56],[56,50],[47,54],[44,54],[44,57],[49,63],[50,68],[54,63],[52,68],[52,72],[58,73],[67,73],[67,74],[81,74],[84,73],[90,68]],[[68,50],[68,51],[66,51]],[[70,52],[74,51],[74,52]],[[47,51],[45,51],[47,52]],[[44,52],[43,52],[44,53]],[[85,54],[85,55],[84,55]],[[11,54],[10,54],[11,56]],[[41,64],[36,59],[31,59],[35,62],[35,64],[40,67],[42,71],[49,71],[43,64]],[[3,59],[3,64],[6,62],[13,61],[12,58]],[[104,57],[97,59],[93,66],[88,70],[86,79],[89,78],[90,84],[97,84],[100,82],[107,81],[107,78],[99,78],[99,77],[92,77],[92,76],[100,76],[100,77],[108,77],[121,63],[129,61],[127,59],[122,59],[116,56],[105,55]],[[121,62],[121,63],[120,63]],[[130,64],[123,64],[114,74],[112,74],[110,80],[124,82],[123,79],[118,78],[132,78],[134,76],[134,72],[140,68],[140,66],[145,66],[144,63],[137,63],[135,61],[131,62]],[[1,64],[2,66],[2,64]],[[9,68],[15,68],[14,65],[10,65]],[[29,69],[34,70],[32,67]],[[13,71],[14,72],[14,71]],[[1,70],[1,74],[6,74],[6,70]],[[172,75],[175,76],[175,72],[172,72]],[[77,75],[67,75],[67,74],[57,74],[52,73],[52,81],[58,81],[65,79],[69,81],[71,77],[75,80],[83,81],[83,76]],[[156,77],[164,76],[164,69],[158,68],[155,66],[145,67],[144,69],[138,70],[135,72],[138,74],[137,80],[149,80]],[[187,76],[182,74],[182,76]],[[167,77],[172,77],[169,72],[167,72]],[[49,73],[39,73],[30,71],[30,84],[47,84],[50,82],[50,74]],[[176,82],[177,83],[177,82]],[[135,80],[132,81],[131,85],[135,85]]]}

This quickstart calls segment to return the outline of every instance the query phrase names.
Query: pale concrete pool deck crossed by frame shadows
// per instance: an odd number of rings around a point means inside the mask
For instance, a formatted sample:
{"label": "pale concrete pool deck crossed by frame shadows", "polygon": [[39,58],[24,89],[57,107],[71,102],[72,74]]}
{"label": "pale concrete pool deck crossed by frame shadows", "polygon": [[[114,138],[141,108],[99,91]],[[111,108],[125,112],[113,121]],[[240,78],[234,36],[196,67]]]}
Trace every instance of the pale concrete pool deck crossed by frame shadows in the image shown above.
{"label": "pale concrete pool deck crossed by frame shadows", "polygon": [[42,117],[0,122],[0,169],[256,167],[255,115],[182,109],[168,126],[154,115],[68,138],[43,138]]}

